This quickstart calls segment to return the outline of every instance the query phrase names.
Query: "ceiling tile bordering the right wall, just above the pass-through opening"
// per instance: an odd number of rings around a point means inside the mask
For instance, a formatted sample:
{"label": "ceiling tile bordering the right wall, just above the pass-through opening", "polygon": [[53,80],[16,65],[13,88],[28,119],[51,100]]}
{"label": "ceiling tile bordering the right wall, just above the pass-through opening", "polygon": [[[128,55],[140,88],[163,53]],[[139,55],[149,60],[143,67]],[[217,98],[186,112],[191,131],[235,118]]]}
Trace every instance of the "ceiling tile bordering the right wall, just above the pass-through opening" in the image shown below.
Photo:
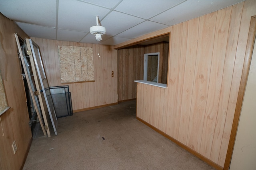
{"label": "ceiling tile bordering the right wall, just above the pass-through opening", "polygon": [[151,33],[151,32],[154,32],[155,30],[163,29],[166,27],[168,27],[168,25],[163,25],[161,23],[156,23],[152,21],[145,21],[116,36],[123,37],[123,38],[136,38],[141,35],[145,35],[147,33]]}

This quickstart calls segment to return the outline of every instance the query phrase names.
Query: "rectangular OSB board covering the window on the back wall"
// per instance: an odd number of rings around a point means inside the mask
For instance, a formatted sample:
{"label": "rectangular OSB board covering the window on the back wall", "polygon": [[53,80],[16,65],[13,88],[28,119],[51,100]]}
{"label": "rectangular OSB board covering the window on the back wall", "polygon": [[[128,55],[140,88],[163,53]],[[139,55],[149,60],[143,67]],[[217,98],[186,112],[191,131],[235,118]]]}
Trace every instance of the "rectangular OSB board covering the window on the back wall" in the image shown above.
{"label": "rectangular OSB board covering the window on the back wall", "polygon": [[94,80],[92,47],[58,45],[61,83]]}

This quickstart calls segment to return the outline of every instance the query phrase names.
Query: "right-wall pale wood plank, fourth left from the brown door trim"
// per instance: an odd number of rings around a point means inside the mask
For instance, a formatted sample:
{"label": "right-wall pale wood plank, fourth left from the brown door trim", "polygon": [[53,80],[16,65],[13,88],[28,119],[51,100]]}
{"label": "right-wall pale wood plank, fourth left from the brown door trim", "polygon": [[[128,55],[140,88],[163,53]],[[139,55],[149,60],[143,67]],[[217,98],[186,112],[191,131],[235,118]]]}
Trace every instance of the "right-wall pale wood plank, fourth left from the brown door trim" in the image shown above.
{"label": "right-wall pale wood plank, fourth left from the brown door trim", "polygon": [[190,109],[187,145],[196,152],[200,151],[204,125],[207,92],[212,63],[214,33],[217,12],[200,17],[198,47]]}

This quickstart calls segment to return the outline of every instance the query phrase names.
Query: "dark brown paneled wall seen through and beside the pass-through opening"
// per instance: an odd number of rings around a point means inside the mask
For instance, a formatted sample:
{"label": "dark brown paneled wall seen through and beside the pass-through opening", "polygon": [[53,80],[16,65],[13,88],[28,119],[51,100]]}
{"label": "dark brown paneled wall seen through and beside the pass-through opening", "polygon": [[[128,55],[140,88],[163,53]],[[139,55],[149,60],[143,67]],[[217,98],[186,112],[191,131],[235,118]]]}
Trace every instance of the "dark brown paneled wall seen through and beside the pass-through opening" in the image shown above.
{"label": "dark brown paneled wall seen through and beside the pass-through opening", "polygon": [[159,80],[161,83],[166,84],[169,43],[161,42],[118,49],[118,101],[137,97],[137,88],[134,80],[143,80],[144,54],[157,52],[160,52]]}

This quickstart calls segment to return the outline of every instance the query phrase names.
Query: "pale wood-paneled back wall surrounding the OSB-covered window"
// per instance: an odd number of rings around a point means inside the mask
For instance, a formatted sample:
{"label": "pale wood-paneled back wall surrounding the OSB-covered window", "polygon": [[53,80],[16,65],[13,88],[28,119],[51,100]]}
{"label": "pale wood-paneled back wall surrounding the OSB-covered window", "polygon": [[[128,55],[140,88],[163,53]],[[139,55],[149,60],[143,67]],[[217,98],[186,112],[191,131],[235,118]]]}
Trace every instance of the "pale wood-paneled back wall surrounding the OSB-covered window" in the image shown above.
{"label": "pale wood-paneled back wall surrounding the OSB-covered window", "polygon": [[[117,103],[117,50],[113,46],[31,39],[40,47],[49,86],[69,86],[74,112]],[[92,47],[95,82],[61,84],[58,45]]]}

